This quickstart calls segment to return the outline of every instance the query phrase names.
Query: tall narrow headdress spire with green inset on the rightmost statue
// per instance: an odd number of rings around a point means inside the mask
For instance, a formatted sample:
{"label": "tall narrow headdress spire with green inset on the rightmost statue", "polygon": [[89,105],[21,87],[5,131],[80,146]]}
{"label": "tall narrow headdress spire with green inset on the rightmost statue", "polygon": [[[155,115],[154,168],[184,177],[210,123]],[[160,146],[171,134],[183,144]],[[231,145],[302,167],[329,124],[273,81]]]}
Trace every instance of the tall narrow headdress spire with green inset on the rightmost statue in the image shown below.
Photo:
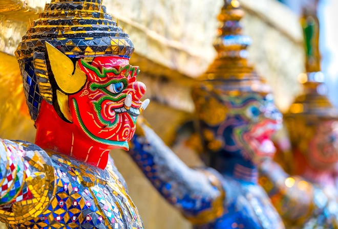
{"label": "tall narrow headdress spire with green inset on the rightmost statue", "polygon": [[[316,3],[318,4],[318,3]],[[285,117],[296,114],[316,122],[318,118],[336,118],[338,110],[333,107],[327,97],[325,76],[321,72],[321,55],[319,49],[319,20],[316,7],[304,7],[301,18],[304,32],[304,49],[306,54],[306,73],[298,76],[303,85],[303,93],[295,98]]]}

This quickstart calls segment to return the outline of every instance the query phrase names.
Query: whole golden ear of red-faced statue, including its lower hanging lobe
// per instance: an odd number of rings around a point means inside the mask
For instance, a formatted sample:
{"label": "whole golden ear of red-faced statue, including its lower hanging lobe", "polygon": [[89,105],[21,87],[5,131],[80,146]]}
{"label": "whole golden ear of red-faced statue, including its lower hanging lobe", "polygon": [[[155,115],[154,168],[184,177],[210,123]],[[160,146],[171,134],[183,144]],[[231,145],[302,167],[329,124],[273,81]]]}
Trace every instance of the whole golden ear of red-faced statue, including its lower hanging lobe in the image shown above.
{"label": "whole golden ear of red-faced statue, including its lower hanging lobe", "polygon": [[[45,42],[45,44],[50,70],[52,72],[50,75],[53,77],[52,82],[54,82],[54,84],[56,83],[54,87],[56,90],[54,96],[56,96],[56,98],[51,101],[59,117],[66,122],[72,123],[73,118],[69,108],[68,96],[81,90],[87,81],[87,76],[80,70],[78,62],[76,62],[74,67],[73,61],[65,54],[61,53],[48,42]],[[51,76],[47,75],[46,78],[50,81],[50,77]]]}

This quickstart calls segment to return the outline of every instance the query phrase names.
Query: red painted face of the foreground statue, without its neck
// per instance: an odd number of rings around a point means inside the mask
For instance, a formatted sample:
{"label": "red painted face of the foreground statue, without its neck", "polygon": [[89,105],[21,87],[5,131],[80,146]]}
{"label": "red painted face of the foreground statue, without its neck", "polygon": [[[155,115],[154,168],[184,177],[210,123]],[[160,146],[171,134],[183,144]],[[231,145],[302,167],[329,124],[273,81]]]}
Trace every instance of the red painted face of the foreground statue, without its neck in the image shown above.
{"label": "red painted face of the foreground statue, without its neck", "polygon": [[138,67],[118,57],[96,57],[92,63],[80,59],[78,64],[87,82],[69,96],[73,122],[95,142],[128,149],[146,90],[136,82]]}

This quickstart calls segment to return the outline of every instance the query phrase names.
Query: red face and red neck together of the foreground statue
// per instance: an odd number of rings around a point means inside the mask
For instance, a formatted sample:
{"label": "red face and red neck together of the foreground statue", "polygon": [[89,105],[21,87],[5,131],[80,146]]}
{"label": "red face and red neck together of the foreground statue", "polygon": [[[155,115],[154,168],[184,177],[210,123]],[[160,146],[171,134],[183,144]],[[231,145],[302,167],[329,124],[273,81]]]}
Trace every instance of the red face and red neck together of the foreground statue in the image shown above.
{"label": "red face and red neck together of the foreground statue", "polygon": [[[80,69],[69,77],[83,77],[83,87],[66,95],[54,85],[53,105],[41,103],[35,143],[104,169],[111,149],[128,150],[136,119],[149,103],[140,102],[146,88],[136,82],[138,67],[129,65],[128,59],[96,57],[91,63],[79,59],[77,64]],[[67,114],[69,122],[61,114]]]}

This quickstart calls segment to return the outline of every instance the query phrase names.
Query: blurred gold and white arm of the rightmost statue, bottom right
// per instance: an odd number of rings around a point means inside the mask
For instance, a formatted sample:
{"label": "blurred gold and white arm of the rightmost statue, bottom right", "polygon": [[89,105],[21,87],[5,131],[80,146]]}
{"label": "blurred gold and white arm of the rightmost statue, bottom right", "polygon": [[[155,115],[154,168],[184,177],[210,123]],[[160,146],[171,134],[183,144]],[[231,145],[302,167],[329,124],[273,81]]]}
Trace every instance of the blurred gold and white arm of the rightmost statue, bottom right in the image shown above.
{"label": "blurred gold and white arm of the rightmost statue, bottom right", "polygon": [[259,182],[284,221],[302,225],[313,209],[314,187],[298,176],[289,176],[276,162],[260,165]]}

